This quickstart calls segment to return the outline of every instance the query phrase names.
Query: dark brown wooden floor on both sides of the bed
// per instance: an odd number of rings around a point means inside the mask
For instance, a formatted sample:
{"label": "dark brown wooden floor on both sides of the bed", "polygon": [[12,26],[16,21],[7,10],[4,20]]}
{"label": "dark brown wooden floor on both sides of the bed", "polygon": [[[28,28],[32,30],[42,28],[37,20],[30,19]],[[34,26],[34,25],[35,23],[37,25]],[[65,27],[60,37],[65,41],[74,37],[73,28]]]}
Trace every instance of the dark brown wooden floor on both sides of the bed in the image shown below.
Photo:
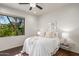
{"label": "dark brown wooden floor on both sides of the bed", "polygon": [[[22,46],[5,50],[5,51],[1,51],[0,56],[15,56],[17,54],[20,54],[21,50],[22,50]],[[22,56],[28,56],[28,55],[23,54]],[[60,48],[54,56],[79,56],[79,54]]]}

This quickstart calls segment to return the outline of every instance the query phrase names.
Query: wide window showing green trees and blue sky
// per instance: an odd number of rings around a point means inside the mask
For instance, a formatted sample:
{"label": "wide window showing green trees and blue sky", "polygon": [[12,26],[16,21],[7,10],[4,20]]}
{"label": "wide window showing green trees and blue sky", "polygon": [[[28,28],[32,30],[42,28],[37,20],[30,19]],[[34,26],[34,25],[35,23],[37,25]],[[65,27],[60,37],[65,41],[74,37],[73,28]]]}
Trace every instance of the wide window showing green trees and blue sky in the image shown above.
{"label": "wide window showing green trees and blue sky", "polygon": [[0,15],[0,37],[24,35],[25,18]]}

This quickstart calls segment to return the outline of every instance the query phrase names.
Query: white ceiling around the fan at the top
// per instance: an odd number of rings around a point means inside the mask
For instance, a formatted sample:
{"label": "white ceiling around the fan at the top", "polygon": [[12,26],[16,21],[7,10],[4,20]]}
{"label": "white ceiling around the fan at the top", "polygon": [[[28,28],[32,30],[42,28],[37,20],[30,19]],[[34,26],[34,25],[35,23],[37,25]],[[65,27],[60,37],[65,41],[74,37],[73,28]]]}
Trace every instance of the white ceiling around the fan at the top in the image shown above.
{"label": "white ceiling around the fan at the top", "polygon": [[35,14],[35,15],[43,15],[49,12],[52,12],[54,10],[57,10],[58,8],[61,8],[65,5],[68,5],[66,3],[38,3],[41,7],[43,7],[43,10],[40,10],[38,8],[33,8],[31,11],[29,11],[30,5],[20,5],[18,3],[1,3],[0,5],[9,7],[12,9],[16,9],[18,11],[23,11],[29,14]]}

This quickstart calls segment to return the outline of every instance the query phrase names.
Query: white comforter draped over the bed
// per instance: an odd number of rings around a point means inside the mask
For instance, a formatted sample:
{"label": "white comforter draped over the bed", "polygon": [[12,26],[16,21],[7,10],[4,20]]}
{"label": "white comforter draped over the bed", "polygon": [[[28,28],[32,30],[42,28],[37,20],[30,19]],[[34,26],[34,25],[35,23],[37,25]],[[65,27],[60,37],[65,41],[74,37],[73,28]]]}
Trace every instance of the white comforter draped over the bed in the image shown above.
{"label": "white comforter draped over the bed", "polygon": [[24,42],[23,52],[29,56],[51,56],[55,54],[59,48],[58,38],[30,37]]}

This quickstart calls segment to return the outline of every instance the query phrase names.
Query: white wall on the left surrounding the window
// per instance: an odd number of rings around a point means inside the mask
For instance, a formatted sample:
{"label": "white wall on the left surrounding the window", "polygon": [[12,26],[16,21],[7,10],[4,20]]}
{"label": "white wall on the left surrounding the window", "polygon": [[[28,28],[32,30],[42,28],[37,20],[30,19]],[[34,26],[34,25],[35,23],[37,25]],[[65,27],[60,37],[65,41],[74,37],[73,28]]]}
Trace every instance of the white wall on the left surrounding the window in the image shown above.
{"label": "white wall on the left surrounding the window", "polygon": [[21,46],[27,37],[35,35],[37,30],[36,16],[5,7],[0,7],[0,14],[25,17],[25,35],[0,37],[0,51]]}

